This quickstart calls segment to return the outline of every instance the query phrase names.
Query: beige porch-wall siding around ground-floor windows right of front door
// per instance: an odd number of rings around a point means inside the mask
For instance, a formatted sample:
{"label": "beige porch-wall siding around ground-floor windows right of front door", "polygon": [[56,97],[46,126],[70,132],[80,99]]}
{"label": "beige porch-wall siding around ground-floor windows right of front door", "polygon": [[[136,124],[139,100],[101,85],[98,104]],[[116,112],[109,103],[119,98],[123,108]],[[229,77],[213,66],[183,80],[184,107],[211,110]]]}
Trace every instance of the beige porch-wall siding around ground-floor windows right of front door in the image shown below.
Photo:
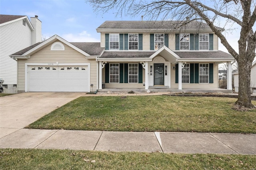
{"label": "beige porch-wall siding around ground-floor windows right of front door", "polygon": [[[171,65],[171,68],[173,66],[175,67],[175,65]],[[173,69],[171,69],[171,89],[178,89]],[[213,65],[213,83],[182,83],[182,89],[218,89],[218,65]]]}

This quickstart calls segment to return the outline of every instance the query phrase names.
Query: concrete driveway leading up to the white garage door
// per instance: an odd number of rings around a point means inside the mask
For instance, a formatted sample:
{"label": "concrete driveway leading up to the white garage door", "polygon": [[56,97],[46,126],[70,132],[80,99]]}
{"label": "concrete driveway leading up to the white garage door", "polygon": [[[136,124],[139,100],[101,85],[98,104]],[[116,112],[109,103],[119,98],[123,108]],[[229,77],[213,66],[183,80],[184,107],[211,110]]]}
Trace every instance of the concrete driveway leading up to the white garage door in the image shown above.
{"label": "concrete driveway leading up to the white garage door", "polygon": [[81,92],[28,92],[0,97],[0,138],[84,95]]}

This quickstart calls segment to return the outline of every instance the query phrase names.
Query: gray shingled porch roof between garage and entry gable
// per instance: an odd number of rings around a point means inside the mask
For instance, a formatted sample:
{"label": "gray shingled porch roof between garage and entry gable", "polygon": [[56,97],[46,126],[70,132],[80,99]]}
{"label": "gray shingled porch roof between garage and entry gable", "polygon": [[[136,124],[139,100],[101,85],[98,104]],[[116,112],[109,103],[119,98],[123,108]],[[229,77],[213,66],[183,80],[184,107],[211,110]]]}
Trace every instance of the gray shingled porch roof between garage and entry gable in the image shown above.
{"label": "gray shingled porch roof between garage and entry gable", "polygon": [[155,51],[104,51],[100,58],[147,58]]}

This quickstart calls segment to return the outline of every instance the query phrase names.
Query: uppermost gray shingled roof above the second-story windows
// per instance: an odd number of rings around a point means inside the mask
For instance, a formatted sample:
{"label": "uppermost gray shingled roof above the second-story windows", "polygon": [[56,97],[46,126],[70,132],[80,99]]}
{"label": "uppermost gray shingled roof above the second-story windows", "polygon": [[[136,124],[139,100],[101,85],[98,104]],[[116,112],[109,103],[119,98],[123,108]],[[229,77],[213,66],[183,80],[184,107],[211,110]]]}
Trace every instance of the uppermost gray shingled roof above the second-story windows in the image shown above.
{"label": "uppermost gray shingled roof above the second-story windows", "polygon": [[[184,21],[105,21],[96,30],[101,29],[158,29],[158,30],[211,30],[210,27],[203,22],[191,21],[181,27]],[[222,30],[222,28],[218,29]]]}

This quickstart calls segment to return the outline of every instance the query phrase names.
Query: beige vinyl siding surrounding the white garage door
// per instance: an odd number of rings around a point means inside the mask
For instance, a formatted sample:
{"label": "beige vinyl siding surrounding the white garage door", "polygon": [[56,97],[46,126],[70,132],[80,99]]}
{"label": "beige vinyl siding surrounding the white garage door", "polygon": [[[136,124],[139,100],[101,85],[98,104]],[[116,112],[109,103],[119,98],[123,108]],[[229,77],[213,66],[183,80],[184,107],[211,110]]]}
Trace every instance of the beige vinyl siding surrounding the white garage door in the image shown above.
{"label": "beige vinyl siding surrounding the white garage door", "polygon": [[31,55],[28,59],[18,61],[18,91],[25,90],[25,63],[90,63],[90,84],[97,85],[97,63],[95,59],[86,59],[84,55],[64,44],[65,51],[51,51],[48,45]]}

